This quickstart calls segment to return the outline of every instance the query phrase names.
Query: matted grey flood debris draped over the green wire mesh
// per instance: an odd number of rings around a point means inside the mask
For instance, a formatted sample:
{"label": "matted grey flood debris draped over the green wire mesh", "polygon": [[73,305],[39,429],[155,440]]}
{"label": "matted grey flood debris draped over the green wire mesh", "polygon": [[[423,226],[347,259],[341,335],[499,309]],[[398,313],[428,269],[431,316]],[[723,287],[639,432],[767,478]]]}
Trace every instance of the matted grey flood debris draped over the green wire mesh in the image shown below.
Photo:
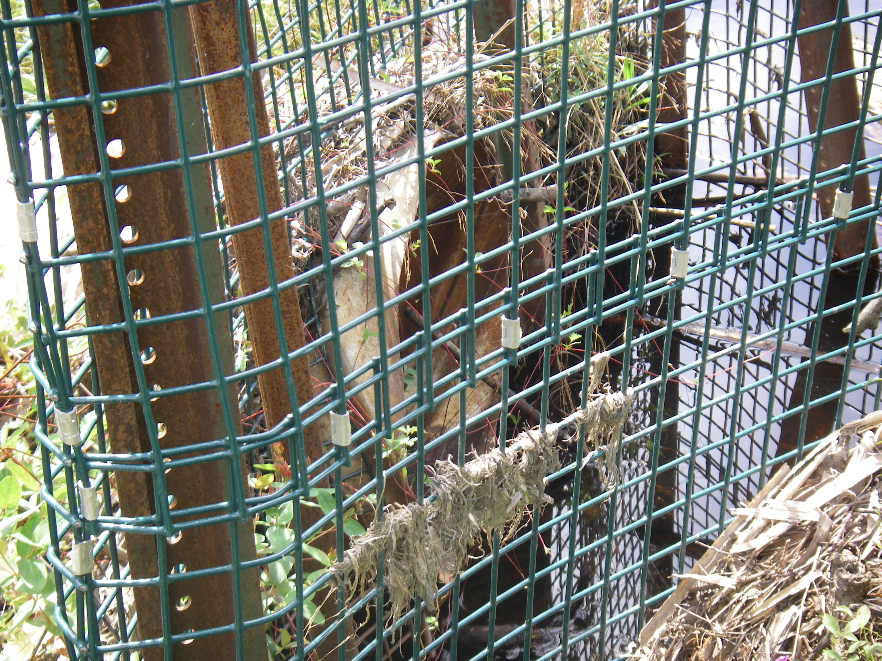
{"label": "matted grey flood debris draped over the green wire mesh", "polygon": [[437,461],[430,496],[422,503],[387,506],[384,516],[355,537],[331,571],[337,580],[359,592],[375,582],[382,555],[383,585],[390,603],[388,621],[407,611],[416,595],[433,608],[437,585],[465,567],[484,538],[497,533],[501,543],[518,533],[527,517],[538,516],[551,501],[548,478],[560,469],[558,437],[564,430],[605,453],[622,434],[633,393],[601,385],[609,354],[592,359],[590,394],[584,409],[544,430],[525,431],[505,448],[477,455],[466,464]]}

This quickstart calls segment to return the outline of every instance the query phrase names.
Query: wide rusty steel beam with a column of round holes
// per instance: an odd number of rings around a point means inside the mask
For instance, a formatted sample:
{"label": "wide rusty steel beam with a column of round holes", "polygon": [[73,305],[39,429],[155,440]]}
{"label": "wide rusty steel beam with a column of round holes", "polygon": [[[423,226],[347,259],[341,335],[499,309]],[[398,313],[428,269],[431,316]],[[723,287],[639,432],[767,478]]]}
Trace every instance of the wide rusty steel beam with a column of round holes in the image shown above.
{"label": "wide rusty steel beam with a column of round holes", "polygon": [[[131,4],[120,0],[103,0],[102,7]],[[37,14],[76,11],[75,2],[34,0]],[[97,70],[101,92],[112,93],[146,85],[168,83],[164,26],[160,12],[134,13],[112,18],[93,19],[89,26],[93,47],[104,47],[109,61]],[[188,23],[175,21],[179,41],[178,57],[185,77],[192,77],[192,56],[188,44]],[[39,28],[42,62],[49,93],[53,99],[82,96],[89,91],[83,47],[75,24],[60,23]],[[91,56],[91,54],[90,54]],[[196,90],[183,91],[182,102],[195,121],[185,128],[191,153],[206,151],[206,137],[199,121],[199,99]],[[99,171],[99,150],[106,145],[96,143],[91,116],[86,106],[57,108],[53,112],[65,175],[83,175]],[[116,101],[113,112],[102,114],[106,140],[122,140],[123,153],[110,159],[111,169],[129,168],[176,160],[179,145],[170,93],[153,93]],[[214,229],[211,184],[205,165],[192,167],[194,199],[200,231]],[[115,178],[119,189],[115,204],[119,227],[131,227],[132,245],[147,245],[180,239],[191,235],[190,216],[185,204],[183,172],[167,169],[159,172]],[[120,189],[125,186],[126,189]],[[87,253],[112,248],[108,209],[101,184],[87,183],[68,187],[71,214],[78,252]],[[219,253],[211,244],[204,245],[202,262],[191,247],[160,249],[125,258],[128,273],[128,295],[132,308],[146,310],[152,317],[171,315],[202,307],[196,273],[204,268],[209,279],[212,301],[223,297],[223,279]],[[83,264],[83,285],[86,311],[91,324],[123,321],[122,293],[110,261]],[[209,358],[210,343],[218,343],[225,372],[232,371],[232,342],[226,316],[214,317],[217,334],[209,336],[201,318],[173,323],[158,323],[138,331],[138,346],[152,347],[153,358],[145,362],[149,383],[163,389],[210,382],[214,378]],[[123,332],[93,337],[95,363],[101,380],[101,392],[127,394],[138,391],[128,338]],[[237,434],[228,430],[221,417],[221,397],[228,397],[236,410],[235,390],[209,388],[199,392],[157,397],[152,405],[153,419],[162,423],[160,444],[163,449],[209,442]],[[145,418],[138,405],[107,405],[108,437],[114,452],[148,452],[149,436]],[[235,442],[235,438],[233,439]],[[160,464],[161,465],[161,464]],[[235,467],[242,470],[243,466]],[[159,469],[161,471],[161,468]],[[192,464],[186,469],[148,473],[117,472],[114,484],[118,491],[123,516],[151,516],[157,512],[154,479],[165,481],[168,494],[174,495],[178,509],[228,501],[228,465],[223,461]],[[162,502],[159,507],[168,507]],[[153,534],[126,535],[126,545],[133,578],[168,575],[172,568],[183,565],[186,571],[229,565],[231,544],[240,548],[240,561],[256,557],[253,526],[212,524],[183,531],[179,538],[169,539],[167,563],[158,566],[156,538]],[[262,614],[258,572],[243,572],[241,579],[242,616],[246,619]],[[213,628],[231,624],[233,613],[233,577],[230,574],[204,576],[170,583],[168,586],[170,630],[163,631],[160,591],[158,588],[136,588],[138,635],[142,639],[183,634],[188,630]],[[243,634],[246,657],[265,656],[264,633],[250,628]],[[141,650],[147,659],[163,657],[161,648]],[[174,658],[230,658],[235,656],[233,634],[197,637],[190,645],[172,646]]]}

